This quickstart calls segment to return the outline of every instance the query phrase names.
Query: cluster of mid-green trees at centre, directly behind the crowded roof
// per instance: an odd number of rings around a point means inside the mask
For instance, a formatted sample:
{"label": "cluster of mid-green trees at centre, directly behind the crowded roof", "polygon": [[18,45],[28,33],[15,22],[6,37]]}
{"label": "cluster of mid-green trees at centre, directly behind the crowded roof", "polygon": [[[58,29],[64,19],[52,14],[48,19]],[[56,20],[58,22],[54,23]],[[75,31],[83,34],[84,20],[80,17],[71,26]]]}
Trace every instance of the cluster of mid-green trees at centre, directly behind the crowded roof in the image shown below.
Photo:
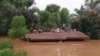
{"label": "cluster of mid-green trees at centre, directly behind the crowded roof", "polygon": [[68,15],[66,8],[60,11],[60,6],[56,4],[47,5],[46,11],[39,12],[41,26],[44,28],[62,27],[63,23],[68,23]]}

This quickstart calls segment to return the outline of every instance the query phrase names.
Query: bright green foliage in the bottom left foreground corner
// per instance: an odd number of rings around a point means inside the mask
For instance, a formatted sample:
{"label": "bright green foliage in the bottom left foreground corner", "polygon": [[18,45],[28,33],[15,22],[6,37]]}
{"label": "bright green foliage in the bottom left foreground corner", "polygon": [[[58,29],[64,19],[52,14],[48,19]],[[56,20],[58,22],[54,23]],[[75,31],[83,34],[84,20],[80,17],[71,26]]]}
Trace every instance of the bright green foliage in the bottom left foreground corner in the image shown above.
{"label": "bright green foliage in the bottom left foreground corner", "polygon": [[15,51],[10,39],[0,41],[0,56],[26,56],[25,51]]}

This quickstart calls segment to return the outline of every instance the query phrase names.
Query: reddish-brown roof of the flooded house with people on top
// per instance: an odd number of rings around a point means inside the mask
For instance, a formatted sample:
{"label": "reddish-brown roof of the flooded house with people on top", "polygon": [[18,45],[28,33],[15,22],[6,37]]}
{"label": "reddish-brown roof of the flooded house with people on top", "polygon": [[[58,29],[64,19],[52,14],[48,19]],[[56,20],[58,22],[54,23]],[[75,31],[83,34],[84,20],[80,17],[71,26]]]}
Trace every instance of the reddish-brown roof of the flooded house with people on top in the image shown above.
{"label": "reddish-brown roof of the flooded house with people on top", "polygon": [[32,40],[65,40],[68,38],[89,39],[89,36],[80,31],[70,31],[62,33],[43,32],[40,34],[27,34],[26,38]]}

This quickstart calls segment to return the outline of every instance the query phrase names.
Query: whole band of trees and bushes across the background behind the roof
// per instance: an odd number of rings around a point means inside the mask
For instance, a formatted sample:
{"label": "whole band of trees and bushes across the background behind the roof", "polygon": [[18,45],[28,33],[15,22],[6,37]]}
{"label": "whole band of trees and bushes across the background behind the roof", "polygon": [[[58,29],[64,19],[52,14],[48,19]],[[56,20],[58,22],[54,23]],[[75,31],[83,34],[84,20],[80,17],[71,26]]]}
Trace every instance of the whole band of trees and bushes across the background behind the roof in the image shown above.
{"label": "whole band of trees and bushes across the background behind the roof", "polygon": [[[27,29],[34,28],[66,28],[77,29],[89,35],[92,39],[100,38],[100,1],[85,0],[85,4],[80,9],[75,9],[76,14],[69,14],[67,8],[62,8],[56,4],[47,5],[46,9],[41,11],[38,7],[29,7],[35,4],[34,0],[0,0],[0,35],[9,35],[13,37],[22,37],[27,33]],[[24,25],[18,24],[20,29],[15,32],[16,22],[14,18],[24,22]],[[16,26],[16,29],[17,29]],[[22,30],[23,29],[23,30]]]}

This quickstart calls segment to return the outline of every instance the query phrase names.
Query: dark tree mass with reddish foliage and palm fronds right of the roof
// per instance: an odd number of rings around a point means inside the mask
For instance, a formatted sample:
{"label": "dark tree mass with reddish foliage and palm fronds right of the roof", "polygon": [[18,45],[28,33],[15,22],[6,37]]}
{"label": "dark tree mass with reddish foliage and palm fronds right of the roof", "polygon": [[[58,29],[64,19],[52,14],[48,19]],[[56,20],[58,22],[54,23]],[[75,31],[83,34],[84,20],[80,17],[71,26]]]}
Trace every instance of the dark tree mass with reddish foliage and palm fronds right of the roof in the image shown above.
{"label": "dark tree mass with reddish foliage and palm fronds right of the roof", "polygon": [[[92,39],[100,39],[100,13],[95,8],[100,3],[99,0],[87,0],[81,9],[77,10],[79,20],[72,22],[72,27],[88,34]],[[99,8],[99,7],[98,7]]]}

